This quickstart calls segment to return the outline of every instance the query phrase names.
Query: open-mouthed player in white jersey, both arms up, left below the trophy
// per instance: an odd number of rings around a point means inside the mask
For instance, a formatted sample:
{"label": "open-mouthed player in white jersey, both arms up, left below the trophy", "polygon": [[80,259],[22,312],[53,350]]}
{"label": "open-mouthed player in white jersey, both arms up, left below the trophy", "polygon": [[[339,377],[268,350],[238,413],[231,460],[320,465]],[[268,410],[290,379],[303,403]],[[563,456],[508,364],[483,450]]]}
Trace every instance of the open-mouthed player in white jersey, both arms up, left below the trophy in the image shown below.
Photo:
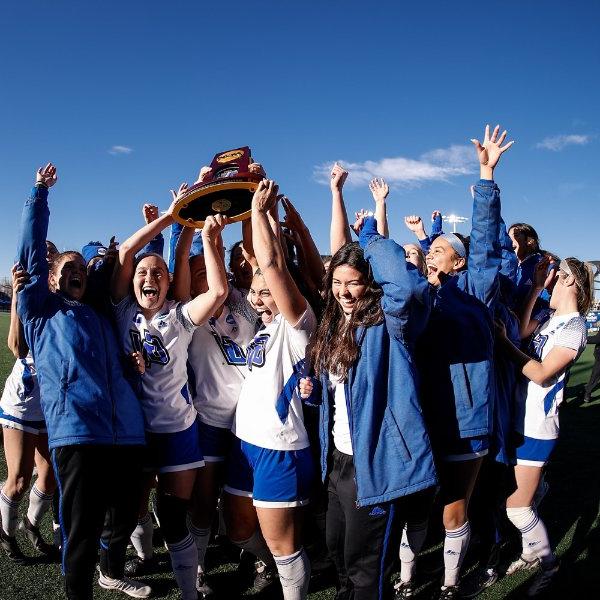
{"label": "open-mouthed player in white jersey, both arms up, left below the trophy", "polygon": [[[182,184],[178,194],[187,189]],[[126,354],[142,352],[141,403],[148,439],[148,468],[158,473],[157,516],[184,600],[196,600],[198,554],[186,523],[196,470],[204,464],[196,411],[187,382],[187,350],[194,329],[207,321],[227,294],[217,240],[225,217],[208,217],[202,230],[208,290],[180,303],[166,299],[169,274],[162,256],[136,253],[173,223],[173,203],[119,248],[111,296]],[[133,288],[133,294],[130,290]]]}

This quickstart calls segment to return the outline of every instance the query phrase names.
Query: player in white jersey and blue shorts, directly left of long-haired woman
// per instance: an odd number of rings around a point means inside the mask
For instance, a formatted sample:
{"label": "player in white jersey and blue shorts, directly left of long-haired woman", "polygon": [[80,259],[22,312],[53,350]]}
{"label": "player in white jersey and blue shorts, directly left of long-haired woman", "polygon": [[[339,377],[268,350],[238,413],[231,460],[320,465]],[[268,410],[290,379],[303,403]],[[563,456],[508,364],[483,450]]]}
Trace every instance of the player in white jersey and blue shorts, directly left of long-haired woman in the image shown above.
{"label": "player in white jersey and blue shorts, directly left of long-haired woman", "polygon": [[232,540],[265,562],[266,541],[284,598],[300,600],[307,595],[310,564],[299,543],[298,507],[308,502],[313,466],[297,383],[316,319],[287,270],[273,230],[277,220],[268,214],[277,191],[265,179],[252,198],[259,270],[249,298],[263,327],[247,349],[248,375],[235,414],[237,439],[225,487],[226,518]]}

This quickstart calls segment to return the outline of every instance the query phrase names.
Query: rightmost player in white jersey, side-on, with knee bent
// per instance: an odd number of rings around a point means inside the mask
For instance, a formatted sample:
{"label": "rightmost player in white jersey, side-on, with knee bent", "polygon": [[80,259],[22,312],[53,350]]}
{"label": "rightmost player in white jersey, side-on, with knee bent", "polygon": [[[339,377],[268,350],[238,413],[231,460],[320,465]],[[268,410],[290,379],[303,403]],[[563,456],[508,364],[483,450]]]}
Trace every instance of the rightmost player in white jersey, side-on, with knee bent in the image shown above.
{"label": "rightmost player in white jersey, side-on, with knee bent", "polygon": [[[541,566],[527,594],[536,596],[547,591],[558,571],[548,533],[537,515],[534,496],[559,434],[558,407],[565,385],[567,369],[583,352],[587,341],[585,315],[594,294],[593,269],[576,258],[567,258],[559,264],[558,271],[550,270],[549,260],[540,260],[534,272],[530,296],[537,297],[555,280],[550,297],[551,318],[538,326],[527,348],[521,352],[499,327],[502,349],[526,378],[526,393],[521,396],[516,424],[523,443],[517,447],[515,476],[517,490],[506,501],[506,512],[514,526],[521,532],[523,551],[521,557],[507,569],[507,575]],[[527,306],[531,314],[533,302]]]}

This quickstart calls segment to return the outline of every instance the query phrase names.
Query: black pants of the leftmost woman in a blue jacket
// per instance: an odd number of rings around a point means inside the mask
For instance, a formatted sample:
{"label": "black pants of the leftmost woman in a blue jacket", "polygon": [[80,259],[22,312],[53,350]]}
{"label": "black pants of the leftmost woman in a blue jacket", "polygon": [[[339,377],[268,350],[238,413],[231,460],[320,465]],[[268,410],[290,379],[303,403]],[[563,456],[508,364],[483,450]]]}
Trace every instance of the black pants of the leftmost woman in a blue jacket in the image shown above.
{"label": "black pants of the leftmost woman in a blue jacket", "polygon": [[100,568],[122,578],[142,491],[140,446],[62,446],[52,451],[60,494],[62,569],[69,600],[91,600]]}

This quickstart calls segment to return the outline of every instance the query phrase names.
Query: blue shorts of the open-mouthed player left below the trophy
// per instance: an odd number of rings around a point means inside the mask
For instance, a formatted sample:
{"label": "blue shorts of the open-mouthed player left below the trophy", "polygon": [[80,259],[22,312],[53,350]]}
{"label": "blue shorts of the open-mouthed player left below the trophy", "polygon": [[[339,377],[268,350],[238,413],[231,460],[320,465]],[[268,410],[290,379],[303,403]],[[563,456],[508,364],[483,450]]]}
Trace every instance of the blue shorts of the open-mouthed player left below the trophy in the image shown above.
{"label": "blue shorts of the open-mouthed player left below the trophy", "polygon": [[173,473],[204,466],[200,449],[198,419],[176,433],[146,432],[145,471]]}

